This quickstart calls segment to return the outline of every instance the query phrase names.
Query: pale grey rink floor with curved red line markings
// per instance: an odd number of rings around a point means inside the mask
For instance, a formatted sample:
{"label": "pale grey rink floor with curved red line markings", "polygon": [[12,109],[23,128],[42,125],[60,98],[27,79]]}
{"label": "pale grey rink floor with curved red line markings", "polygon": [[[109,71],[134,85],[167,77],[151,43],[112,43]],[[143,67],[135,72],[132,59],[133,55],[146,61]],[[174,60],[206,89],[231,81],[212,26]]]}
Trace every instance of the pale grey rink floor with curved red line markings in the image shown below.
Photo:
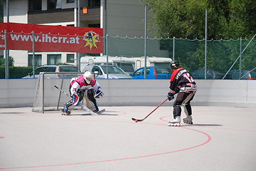
{"label": "pale grey rink floor with curved red line markings", "polygon": [[[256,170],[256,108],[194,106],[194,125],[168,126],[170,106],[0,108],[0,170]],[[182,113],[184,118],[185,114]]]}

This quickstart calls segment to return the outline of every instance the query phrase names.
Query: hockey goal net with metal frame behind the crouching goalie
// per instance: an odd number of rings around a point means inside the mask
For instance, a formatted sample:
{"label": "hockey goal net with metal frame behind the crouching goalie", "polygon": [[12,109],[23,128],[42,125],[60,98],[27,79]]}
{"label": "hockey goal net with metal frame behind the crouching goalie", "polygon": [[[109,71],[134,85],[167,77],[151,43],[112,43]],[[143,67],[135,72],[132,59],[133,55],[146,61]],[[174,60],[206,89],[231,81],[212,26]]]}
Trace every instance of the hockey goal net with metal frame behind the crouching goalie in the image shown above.
{"label": "hockey goal net with metal frame behind the crouching goalie", "polygon": [[[58,78],[56,78],[58,75]],[[47,110],[61,110],[64,103],[71,98],[69,95],[69,83],[71,78],[83,75],[83,73],[40,73],[36,83],[33,112],[44,113]],[[63,90],[61,93],[56,87]]]}

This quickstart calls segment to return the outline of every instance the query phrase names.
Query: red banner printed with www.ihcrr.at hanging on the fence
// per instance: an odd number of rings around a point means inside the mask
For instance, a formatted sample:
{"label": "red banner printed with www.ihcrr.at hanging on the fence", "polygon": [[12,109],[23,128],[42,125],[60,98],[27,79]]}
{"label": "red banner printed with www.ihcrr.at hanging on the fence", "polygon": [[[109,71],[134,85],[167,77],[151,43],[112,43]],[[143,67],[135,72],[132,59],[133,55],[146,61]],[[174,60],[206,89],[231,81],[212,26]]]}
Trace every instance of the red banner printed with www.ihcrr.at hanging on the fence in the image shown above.
{"label": "red banner printed with www.ihcrr.at hanging on the fence", "polygon": [[[6,34],[5,34],[6,31]],[[103,29],[0,23],[0,50],[103,53]],[[7,35],[7,36],[6,36]]]}

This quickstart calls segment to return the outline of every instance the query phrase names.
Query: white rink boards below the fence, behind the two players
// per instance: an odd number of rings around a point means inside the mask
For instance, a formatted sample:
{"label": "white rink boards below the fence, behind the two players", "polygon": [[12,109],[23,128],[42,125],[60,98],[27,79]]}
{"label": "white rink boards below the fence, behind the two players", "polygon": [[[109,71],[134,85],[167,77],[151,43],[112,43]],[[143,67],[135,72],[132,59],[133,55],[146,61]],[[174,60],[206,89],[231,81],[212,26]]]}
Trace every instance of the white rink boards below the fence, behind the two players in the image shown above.
{"label": "white rink boards below the fence, behind the two players", "polygon": [[[99,105],[159,105],[168,93],[168,80],[105,80],[98,79],[104,96],[98,99]],[[31,107],[36,89],[35,79],[1,79],[0,108]],[[53,84],[59,81],[46,81],[48,103],[58,102],[58,90]],[[70,80],[63,81],[63,90],[68,93]],[[256,106],[256,81],[250,80],[196,80],[198,92],[193,105],[220,105],[237,107]],[[60,85],[56,85],[60,86]],[[57,96],[57,97],[56,97]],[[61,95],[61,104],[68,100]],[[65,97],[65,98],[64,98]],[[56,100],[57,99],[57,100]],[[52,100],[52,101],[51,101]]]}

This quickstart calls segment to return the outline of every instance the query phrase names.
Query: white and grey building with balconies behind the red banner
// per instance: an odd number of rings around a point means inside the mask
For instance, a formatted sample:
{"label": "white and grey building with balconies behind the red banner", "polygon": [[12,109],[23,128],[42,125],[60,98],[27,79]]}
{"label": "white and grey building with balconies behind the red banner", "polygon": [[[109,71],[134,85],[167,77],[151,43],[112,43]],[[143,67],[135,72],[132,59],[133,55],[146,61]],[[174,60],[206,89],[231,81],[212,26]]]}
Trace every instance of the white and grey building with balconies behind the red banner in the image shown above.
{"label": "white and grey building with balconies behind the red banner", "polygon": [[[103,28],[103,36],[144,37],[145,6],[140,0],[9,0],[4,22]],[[150,35],[153,36],[153,35]],[[159,50],[159,46],[154,46]],[[31,66],[31,51],[10,51],[14,66]],[[35,52],[36,66],[78,64],[78,56],[102,54]]]}

